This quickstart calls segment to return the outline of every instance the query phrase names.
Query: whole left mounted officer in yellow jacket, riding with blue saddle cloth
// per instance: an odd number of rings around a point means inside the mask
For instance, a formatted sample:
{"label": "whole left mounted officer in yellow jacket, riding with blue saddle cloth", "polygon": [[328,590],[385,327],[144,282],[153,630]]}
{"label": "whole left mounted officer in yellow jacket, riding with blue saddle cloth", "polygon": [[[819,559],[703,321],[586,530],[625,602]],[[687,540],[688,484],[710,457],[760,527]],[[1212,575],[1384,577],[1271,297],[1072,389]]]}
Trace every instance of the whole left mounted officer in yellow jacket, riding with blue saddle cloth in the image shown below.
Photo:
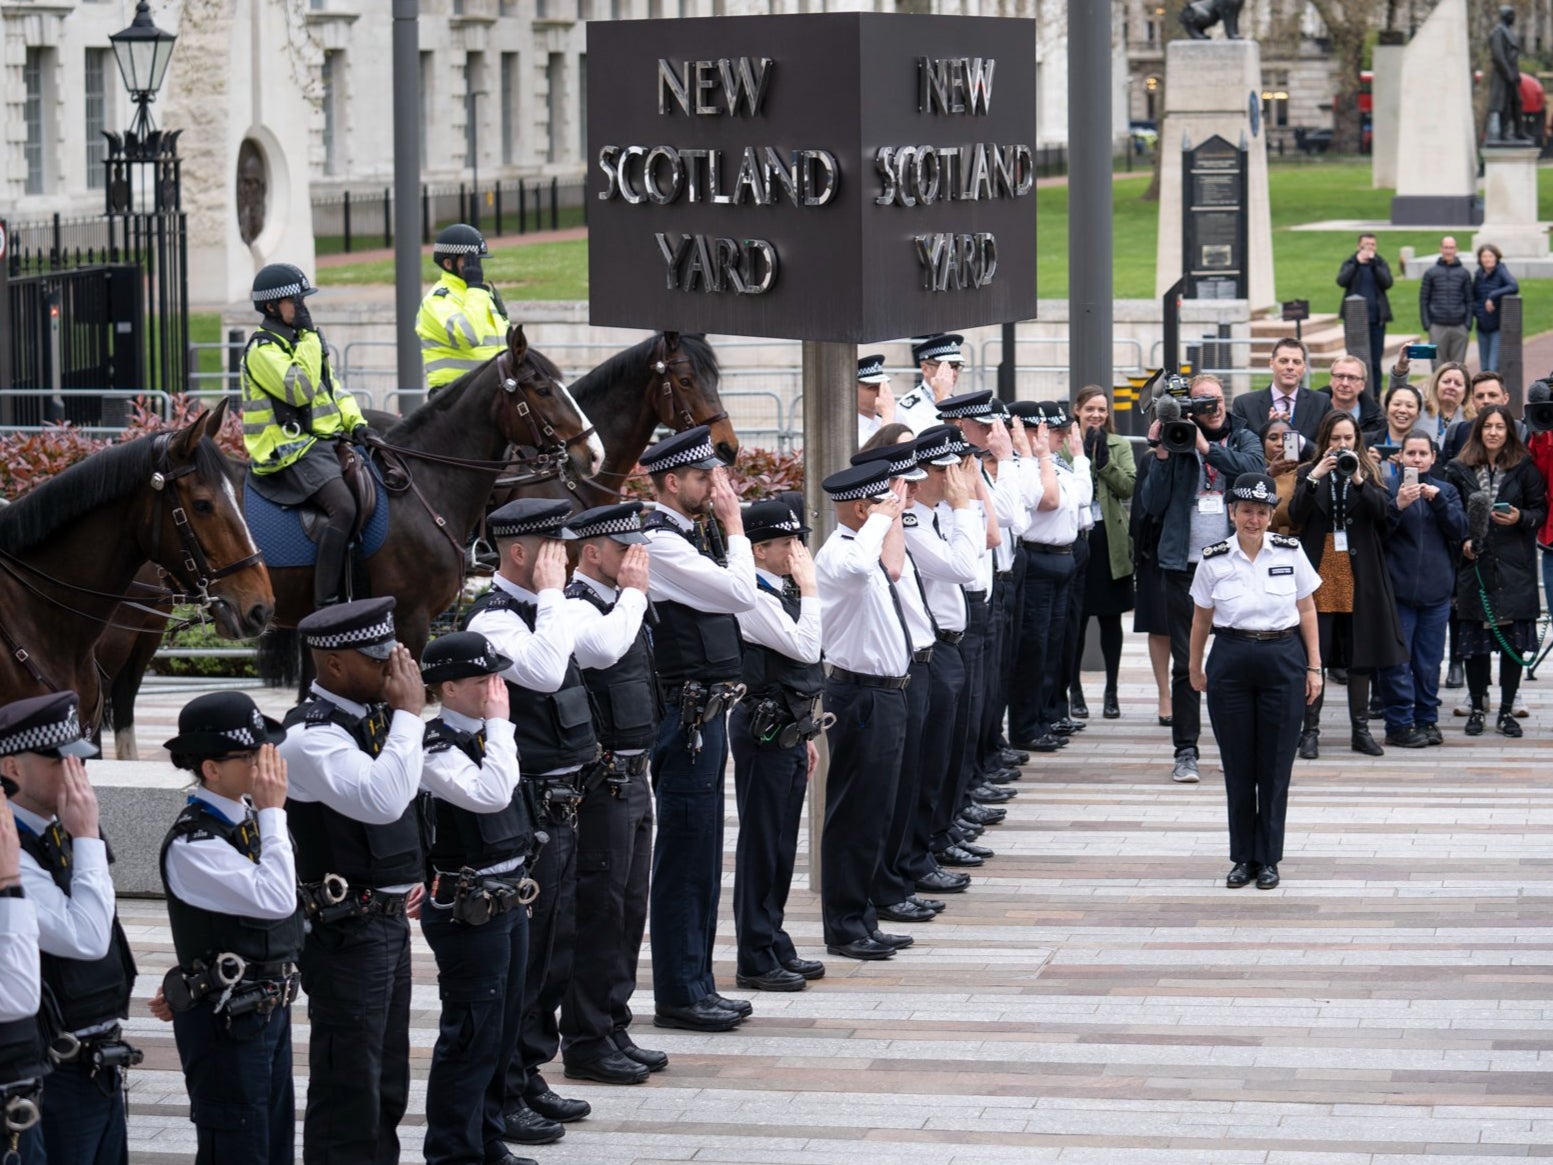
{"label": "whole left mounted officer in yellow jacket, riding with blue saddle cloth", "polygon": [[264,317],[242,353],[242,443],[253,488],[278,505],[323,511],[312,573],[312,603],[337,603],[345,590],[356,497],[345,483],[335,443],[371,430],[360,405],[335,384],[323,337],[307,312],[317,292],[300,267],[272,263],[253,276],[253,306]]}

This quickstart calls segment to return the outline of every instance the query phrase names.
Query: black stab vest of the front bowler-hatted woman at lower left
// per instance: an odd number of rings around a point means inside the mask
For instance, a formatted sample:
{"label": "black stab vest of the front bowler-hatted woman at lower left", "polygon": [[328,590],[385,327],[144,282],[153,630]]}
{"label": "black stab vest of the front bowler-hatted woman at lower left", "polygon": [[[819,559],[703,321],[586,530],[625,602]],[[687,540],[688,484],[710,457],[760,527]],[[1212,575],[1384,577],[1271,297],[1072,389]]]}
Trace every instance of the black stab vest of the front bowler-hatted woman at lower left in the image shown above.
{"label": "black stab vest of the front bowler-hatted woman at lower left", "polygon": [[248,918],[189,906],[172,893],[168,885],[168,850],[180,837],[188,837],[191,842],[219,837],[256,865],[259,861],[259,831],[258,825],[248,829],[244,829],[242,823],[233,825],[217,809],[200,800],[185,805],[183,812],[168,829],[168,836],[162,842],[158,867],[162,887],[168,893],[172,948],[177,951],[182,968],[189,971],[196,958],[210,965],[211,955],[225,952],[241,955],[250,963],[297,962],[301,954],[303,913],[300,907],[289,918]]}

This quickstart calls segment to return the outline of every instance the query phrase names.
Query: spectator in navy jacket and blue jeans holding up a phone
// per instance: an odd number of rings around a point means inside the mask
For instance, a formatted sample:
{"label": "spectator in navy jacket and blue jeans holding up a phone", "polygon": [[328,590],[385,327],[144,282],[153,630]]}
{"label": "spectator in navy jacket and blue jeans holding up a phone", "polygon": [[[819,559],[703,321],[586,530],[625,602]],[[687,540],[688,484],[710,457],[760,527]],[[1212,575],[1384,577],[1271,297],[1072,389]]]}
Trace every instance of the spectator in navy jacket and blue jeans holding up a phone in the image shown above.
{"label": "spectator in navy jacket and blue jeans holding up a phone", "polygon": [[1401,444],[1402,472],[1390,488],[1387,511],[1385,565],[1409,659],[1384,668],[1379,680],[1385,742],[1421,749],[1443,742],[1440,662],[1446,654],[1455,556],[1466,539],[1466,513],[1457,488],[1432,475],[1435,438],[1418,429]]}

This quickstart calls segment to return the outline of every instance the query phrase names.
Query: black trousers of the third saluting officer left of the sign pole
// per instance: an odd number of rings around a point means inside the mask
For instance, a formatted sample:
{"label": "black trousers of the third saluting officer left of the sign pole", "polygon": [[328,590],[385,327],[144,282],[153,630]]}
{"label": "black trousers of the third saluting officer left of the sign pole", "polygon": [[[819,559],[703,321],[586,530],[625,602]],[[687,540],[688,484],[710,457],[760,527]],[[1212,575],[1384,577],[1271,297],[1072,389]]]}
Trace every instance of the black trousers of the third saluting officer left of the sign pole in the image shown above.
{"label": "black trousers of the third saluting officer left of the sign pole", "polygon": [[561,1002],[561,1056],[587,1064],[631,1027],[631,996],[648,927],[652,791],[648,775],[601,784],[578,806],[576,940]]}

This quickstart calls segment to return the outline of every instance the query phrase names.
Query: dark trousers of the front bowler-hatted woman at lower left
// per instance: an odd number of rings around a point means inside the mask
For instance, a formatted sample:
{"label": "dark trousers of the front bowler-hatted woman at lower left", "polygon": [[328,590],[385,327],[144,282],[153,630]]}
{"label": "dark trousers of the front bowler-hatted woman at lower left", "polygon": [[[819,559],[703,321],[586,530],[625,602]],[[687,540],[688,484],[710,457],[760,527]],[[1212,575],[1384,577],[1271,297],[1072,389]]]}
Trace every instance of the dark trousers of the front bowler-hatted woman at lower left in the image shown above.
{"label": "dark trousers of the front bowler-hatted woman at lower left", "polygon": [[295,1160],[290,1007],[227,1024],[207,999],[172,1016],[172,1035],[197,1129],[196,1165]]}

